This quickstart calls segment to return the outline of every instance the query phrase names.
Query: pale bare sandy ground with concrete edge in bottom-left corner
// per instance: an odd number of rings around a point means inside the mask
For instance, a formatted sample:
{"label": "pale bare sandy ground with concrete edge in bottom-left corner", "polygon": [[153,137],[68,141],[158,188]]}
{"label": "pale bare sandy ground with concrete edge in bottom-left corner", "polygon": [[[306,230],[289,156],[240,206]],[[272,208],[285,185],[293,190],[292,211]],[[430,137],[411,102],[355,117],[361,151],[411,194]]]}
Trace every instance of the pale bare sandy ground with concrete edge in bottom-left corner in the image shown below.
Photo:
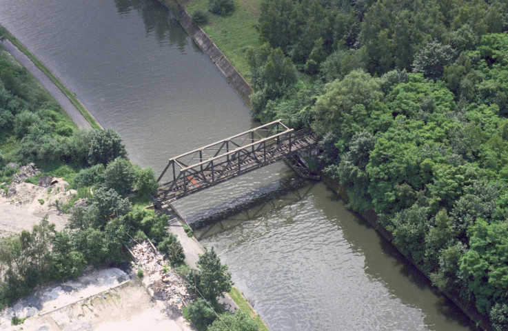
{"label": "pale bare sandy ground with concrete edge in bottom-left corner", "polygon": [[[40,288],[14,308],[1,312],[0,329],[192,330],[181,315],[165,311],[161,301],[152,301],[140,281],[130,280],[117,268],[90,270],[76,281],[55,285]],[[14,312],[19,317],[28,312],[32,317],[21,325],[10,325]]]}

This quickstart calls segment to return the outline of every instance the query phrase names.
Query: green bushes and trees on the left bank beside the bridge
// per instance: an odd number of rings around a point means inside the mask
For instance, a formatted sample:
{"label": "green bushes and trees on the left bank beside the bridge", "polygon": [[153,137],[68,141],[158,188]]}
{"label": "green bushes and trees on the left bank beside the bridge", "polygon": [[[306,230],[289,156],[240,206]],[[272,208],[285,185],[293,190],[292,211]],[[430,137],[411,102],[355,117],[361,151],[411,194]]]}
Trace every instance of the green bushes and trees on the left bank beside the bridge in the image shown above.
{"label": "green bushes and trees on the left bank beside the bridge", "polygon": [[[55,230],[43,219],[32,231],[0,238],[0,308],[42,283],[79,277],[87,264],[125,261],[124,245],[139,232],[149,234],[154,243],[165,243],[167,254],[183,259],[174,237],[165,239],[167,217],[133,208],[126,197],[134,194],[133,201],[146,201],[157,185],[153,170],[126,159],[114,130],[78,130],[4,50],[0,50],[0,129],[3,190],[19,171],[9,162],[34,162],[42,172],[28,182],[37,184],[48,174],[63,177],[78,192],[60,207],[65,212],[72,208],[64,230]],[[73,208],[81,198],[88,206]]]}

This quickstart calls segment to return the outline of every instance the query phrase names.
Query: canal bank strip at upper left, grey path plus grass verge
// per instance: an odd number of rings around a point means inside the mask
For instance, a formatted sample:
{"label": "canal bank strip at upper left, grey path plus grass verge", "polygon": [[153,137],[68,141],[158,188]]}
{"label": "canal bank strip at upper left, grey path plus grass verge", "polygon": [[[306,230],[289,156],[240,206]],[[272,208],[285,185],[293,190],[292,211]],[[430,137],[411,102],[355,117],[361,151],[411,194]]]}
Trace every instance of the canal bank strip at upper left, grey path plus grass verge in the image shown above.
{"label": "canal bank strip at upper left, grey path plus grass verge", "polygon": [[45,90],[59,103],[61,108],[68,114],[70,119],[78,128],[103,129],[101,123],[95,119],[92,113],[85,108],[83,103],[74,96],[58,77],[56,77],[48,67],[44,65],[37,57],[28,50],[18,39],[0,25],[0,29],[5,32],[5,40],[0,40],[0,46],[9,52],[21,66],[26,68],[32,76],[41,83]]}

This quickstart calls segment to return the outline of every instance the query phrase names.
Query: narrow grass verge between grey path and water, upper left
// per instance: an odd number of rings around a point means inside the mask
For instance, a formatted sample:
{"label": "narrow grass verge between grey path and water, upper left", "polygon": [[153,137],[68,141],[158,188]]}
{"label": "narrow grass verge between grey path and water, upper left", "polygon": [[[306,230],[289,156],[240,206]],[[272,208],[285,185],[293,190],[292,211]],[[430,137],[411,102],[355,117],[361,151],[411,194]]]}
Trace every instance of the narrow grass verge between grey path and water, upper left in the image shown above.
{"label": "narrow grass verge between grey path and water, upper left", "polygon": [[19,50],[21,50],[21,52],[23,52],[23,54],[25,54],[28,57],[28,59],[30,59],[34,63],[34,65],[37,66],[37,68],[39,68],[42,72],[44,72],[46,76],[48,76],[51,79],[54,85],[56,85],[63,92],[63,94],[65,94],[65,96],[69,98],[70,102],[74,104],[74,106],[79,110],[79,112],[83,114],[83,117],[85,117],[85,119],[92,125],[92,128],[102,129],[100,124],[97,123],[94,117],[92,117],[92,114],[90,114],[88,109],[86,109],[85,106],[83,106],[83,104],[77,99],[77,97],[74,96],[72,92],[70,92],[67,86],[63,85],[63,83],[51,72],[51,70],[49,70],[44,65],[44,63],[42,63],[39,59],[37,59],[37,57],[34,54],[32,54],[32,52],[30,52],[28,48],[23,46],[23,44],[18,39],[16,39],[12,34],[10,34],[10,32],[8,32],[6,28],[3,28],[3,26],[1,25],[0,25],[0,34],[3,34],[7,39],[9,39],[10,42],[14,44],[14,46],[16,46]]}

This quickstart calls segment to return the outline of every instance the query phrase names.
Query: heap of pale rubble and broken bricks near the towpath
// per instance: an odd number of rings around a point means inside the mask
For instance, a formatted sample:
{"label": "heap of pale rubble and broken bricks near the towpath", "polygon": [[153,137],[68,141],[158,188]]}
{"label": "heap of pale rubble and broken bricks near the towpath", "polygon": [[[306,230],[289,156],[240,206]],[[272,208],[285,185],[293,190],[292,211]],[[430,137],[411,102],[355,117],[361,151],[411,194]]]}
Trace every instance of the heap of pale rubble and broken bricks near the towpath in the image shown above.
{"label": "heap of pale rubble and broken bricks near the towpath", "polygon": [[181,310],[193,301],[185,283],[170,267],[170,261],[154,252],[148,241],[132,247],[139,268],[143,270],[143,283],[155,299],[165,301],[171,310]]}

